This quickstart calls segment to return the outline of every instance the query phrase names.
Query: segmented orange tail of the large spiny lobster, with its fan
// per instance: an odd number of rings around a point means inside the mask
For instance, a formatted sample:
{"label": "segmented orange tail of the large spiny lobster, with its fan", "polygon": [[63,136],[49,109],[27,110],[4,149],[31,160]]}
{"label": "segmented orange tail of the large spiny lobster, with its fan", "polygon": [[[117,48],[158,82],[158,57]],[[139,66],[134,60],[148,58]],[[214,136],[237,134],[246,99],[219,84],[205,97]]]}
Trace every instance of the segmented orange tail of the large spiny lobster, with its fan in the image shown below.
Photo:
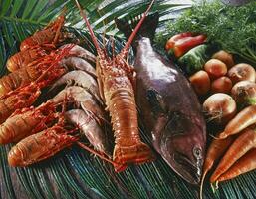
{"label": "segmented orange tail of the large spiny lobster, with its fan", "polygon": [[[117,172],[126,169],[128,164],[142,164],[153,159],[150,148],[139,137],[137,128],[137,111],[132,93],[120,89],[111,95],[110,112],[115,131],[115,148],[113,153]],[[118,111],[117,109],[122,109]]]}

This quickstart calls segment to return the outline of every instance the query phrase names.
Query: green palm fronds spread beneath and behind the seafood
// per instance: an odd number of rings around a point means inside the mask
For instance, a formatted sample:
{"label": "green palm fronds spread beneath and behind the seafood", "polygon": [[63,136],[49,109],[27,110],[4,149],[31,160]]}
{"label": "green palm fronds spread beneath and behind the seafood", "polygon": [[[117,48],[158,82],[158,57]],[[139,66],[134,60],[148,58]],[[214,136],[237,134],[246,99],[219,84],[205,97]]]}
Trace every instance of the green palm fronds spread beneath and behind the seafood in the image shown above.
{"label": "green palm fronds spread beneath and behind the seafood", "polygon": [[[116,38],[116,51],[124,46],[124,38],[115,28],[115,17],[132,17],[142,13],[148,1],[80,2],[99,40],[101,33]],[[174,18],[189,4],[158,0],[152,11],[158,11],[160,25]],[[0,74],[7,73],[7,59],[19,51],[19,44],[36,30],[47,25],[66,8],[67,29],[85,41],[85,48],[95,52],[88,32],[72,0],[0,0]],[[133,60],[130,50],[130,59]],[[142,139],[150,138],[140,126]],[[198,187],[177,176],[156,153],[156,160],[140,166],[129,166],[121,173],[98,157],[74,145],[43,162],[26,168],[8,166],[11,144],[0,146],[0,198],[198,198]],[[213,193],[205,185],[205,198],[256,198],[256,172],[222,183]]]}

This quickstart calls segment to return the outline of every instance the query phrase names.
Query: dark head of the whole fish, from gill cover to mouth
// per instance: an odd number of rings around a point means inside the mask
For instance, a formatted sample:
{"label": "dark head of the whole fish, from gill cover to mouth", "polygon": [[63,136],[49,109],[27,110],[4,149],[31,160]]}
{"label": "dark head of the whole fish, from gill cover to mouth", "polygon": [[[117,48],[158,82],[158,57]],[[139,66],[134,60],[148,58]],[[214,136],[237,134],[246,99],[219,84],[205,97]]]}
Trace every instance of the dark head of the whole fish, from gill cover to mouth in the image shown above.
{"label": "dark head of the whole fish, from gill cover to mouth", "polygon": [[170,167],[191,184],[199,184],[205,137],[199,121],[184,112],[172,111],[161,129],[159,149]]}

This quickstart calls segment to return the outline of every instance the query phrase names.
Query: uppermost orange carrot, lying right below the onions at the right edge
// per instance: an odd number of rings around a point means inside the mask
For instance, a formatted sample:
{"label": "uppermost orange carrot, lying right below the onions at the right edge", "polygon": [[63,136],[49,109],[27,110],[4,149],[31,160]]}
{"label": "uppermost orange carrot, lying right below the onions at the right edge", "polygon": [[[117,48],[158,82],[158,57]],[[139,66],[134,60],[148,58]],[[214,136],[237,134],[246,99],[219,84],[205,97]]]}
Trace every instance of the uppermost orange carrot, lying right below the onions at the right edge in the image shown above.
{"label": "uppermost orange carrot, lying right below the onions at the right edge", "polygon": [[256,123],[256,105],[251,105],[244,108],[230,120],[218,138],[224,139],[229,135],[237,134],[254,123]]}

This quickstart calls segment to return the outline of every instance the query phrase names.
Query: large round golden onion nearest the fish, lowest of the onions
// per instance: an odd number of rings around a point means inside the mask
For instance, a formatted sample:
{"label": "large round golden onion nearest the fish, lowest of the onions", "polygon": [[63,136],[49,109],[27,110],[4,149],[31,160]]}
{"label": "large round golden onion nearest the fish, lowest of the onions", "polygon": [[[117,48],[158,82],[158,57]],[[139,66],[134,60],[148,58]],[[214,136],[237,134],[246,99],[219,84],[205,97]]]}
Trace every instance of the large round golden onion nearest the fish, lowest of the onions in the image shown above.
{"label": "large round golden onion nearest the fish, lowest of the onions", "polygon": [[217,93],[203,103],[203,111],[209,121],[224,125],[236,114],[236,103],[231,96]]}

